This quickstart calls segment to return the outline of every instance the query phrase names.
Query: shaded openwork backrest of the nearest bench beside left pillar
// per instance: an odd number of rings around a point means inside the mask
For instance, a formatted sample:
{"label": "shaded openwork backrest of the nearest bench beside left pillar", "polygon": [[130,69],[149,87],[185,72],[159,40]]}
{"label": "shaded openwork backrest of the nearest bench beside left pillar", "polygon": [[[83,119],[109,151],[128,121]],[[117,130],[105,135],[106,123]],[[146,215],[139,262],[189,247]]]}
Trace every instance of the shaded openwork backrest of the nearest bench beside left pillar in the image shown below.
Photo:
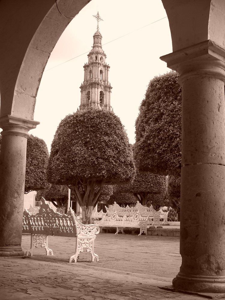
{"label": "shaded openwork backrest of the nearest bench beside left pillar", "polygon": [[23,213],[23,233],[75,236],[76,224],[70,215],[55,212],[45,199],[41,198],[41,208],[36,215],[30,214],[26,209]]}

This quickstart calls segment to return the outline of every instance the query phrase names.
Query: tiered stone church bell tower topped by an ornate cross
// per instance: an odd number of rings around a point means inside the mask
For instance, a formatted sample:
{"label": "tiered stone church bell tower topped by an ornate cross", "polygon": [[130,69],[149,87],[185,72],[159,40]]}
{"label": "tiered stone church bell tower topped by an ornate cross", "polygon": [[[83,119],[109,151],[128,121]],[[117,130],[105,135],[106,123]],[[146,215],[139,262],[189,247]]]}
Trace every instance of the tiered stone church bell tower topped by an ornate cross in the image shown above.
{"label": "tiered stone church bell tower topped by an ornate cross", "polygon": [[[98,23],[102,21],[99,13],[94,17]],[[88,54],[88,63],[84,65],[84,81],[80,86],[79,110],[98,107],[111,111],[110,66],[106,64],[106,54],[102,50],[102,36],[99,32],[99,26],[97,26],[93,38],[93,49]]]}

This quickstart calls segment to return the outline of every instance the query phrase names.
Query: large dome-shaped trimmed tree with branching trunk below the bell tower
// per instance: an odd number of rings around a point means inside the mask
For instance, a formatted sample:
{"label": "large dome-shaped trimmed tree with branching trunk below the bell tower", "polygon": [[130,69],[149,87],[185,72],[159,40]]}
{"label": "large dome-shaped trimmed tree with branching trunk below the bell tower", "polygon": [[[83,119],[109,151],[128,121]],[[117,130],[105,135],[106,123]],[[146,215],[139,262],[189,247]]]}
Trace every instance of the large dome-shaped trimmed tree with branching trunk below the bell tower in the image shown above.
{"label": "large dome-shaped trimmed tree with branching trunk below the bell tower", "polygon": [[134,176],[133,152],[113,112],[88,109],[61,121],[52,141],[47,179],[74,190],[83,223],[91,223],[104,184],[126,184]]}

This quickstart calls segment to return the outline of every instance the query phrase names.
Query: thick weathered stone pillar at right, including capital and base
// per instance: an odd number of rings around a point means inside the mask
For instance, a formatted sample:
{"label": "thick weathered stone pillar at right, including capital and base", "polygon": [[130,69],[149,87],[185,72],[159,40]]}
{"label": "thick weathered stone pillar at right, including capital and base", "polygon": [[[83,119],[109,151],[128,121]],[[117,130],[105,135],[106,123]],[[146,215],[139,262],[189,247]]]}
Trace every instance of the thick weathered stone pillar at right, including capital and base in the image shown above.
{"label": "thick weathered stone pillar at right, including capital and base", "polygon": [[225,50],[205,41],[162,60],[182,85],[182,265],[173,286],[225,292]]}

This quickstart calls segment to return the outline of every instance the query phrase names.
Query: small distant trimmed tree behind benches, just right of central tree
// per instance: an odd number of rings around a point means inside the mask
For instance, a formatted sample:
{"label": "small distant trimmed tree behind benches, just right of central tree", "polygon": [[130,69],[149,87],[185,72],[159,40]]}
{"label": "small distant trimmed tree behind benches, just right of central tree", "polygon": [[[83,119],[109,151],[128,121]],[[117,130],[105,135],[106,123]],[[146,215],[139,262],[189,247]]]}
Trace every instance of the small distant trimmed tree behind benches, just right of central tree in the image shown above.
{"label": "small distant trimmed tree behind benches, just right of central tree", "polygon": [[146,206],[149,202],[150,194],[160,194],[158,199],[164,199],[167,192],[166,176],[152,173],[137,172],[135,179],[128,185],[116,185],[114,193],[128,193],[136,198],[142,205]]}

